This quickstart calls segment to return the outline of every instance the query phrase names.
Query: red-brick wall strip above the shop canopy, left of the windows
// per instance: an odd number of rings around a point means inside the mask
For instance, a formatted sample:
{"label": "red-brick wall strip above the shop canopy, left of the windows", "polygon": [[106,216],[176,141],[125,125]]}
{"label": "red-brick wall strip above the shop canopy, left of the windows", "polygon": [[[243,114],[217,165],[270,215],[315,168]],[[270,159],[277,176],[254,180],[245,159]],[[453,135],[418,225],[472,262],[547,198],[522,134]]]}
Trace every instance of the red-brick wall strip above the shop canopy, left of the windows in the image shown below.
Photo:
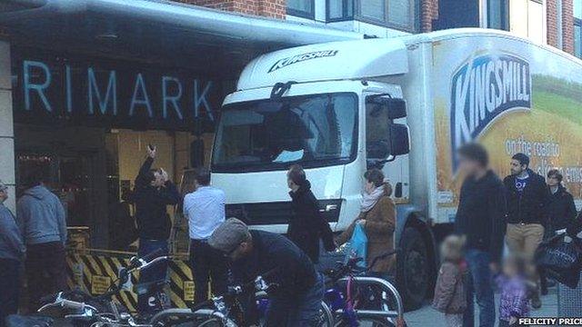
{"label": "red-brick wall strip above the shop canopy, left of the windows", "polygon": [[286,0],[175,0],[185,4],[203,5],[213,9],[247,15],[285,19]]}

